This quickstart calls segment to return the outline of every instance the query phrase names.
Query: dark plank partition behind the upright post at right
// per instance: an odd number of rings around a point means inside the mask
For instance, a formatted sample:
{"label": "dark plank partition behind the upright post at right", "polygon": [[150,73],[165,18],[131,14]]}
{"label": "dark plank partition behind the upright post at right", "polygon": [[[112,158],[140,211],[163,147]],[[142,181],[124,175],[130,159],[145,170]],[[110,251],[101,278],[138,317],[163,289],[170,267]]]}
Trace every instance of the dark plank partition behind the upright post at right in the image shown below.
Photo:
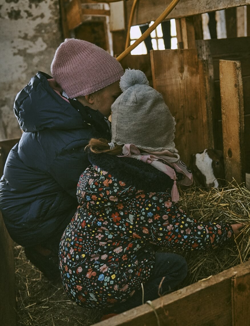
{"label": "dark plank partition behind the upright post at right", "polygon": [[[196,41],[199,59],[206,59],[209,63],[211,80],[212,115],[214,146],[223,150],[222,117],[219,60],[236,60],[241,63],[244,106],[244,148],[245,157],[250,155],[250,37],[236,37],[226,39],[211,39]],[[250,161],[246,160],[245,169],[250,172]]]}

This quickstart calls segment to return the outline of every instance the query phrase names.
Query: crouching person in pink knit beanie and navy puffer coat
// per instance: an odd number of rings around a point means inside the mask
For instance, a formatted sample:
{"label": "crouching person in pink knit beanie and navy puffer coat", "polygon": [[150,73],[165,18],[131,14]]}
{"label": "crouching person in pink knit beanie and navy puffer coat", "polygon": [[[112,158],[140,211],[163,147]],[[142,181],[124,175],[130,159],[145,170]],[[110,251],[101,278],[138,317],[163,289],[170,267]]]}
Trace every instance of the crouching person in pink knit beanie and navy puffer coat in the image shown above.
{"label": "crouching person in pink knit beanie and navy puffer coat", "polygon": [[54,280],[79,175],[89,165],[82,151],[93,137],[111,137],[107,118],[123,68],[98,46],[70,38],[56,50],[51,73],[38,72],[16,96],[23,134],[6,161],[0,209],[11,238]]}

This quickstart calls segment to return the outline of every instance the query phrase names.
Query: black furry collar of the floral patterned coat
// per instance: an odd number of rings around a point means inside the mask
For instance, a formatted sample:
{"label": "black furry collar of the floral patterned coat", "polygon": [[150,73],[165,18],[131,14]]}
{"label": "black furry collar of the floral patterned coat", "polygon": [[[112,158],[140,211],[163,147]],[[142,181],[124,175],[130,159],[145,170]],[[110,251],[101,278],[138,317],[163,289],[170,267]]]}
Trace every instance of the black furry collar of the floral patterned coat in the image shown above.
{"label": "black furry collar of the floral patterned coat", "polygon": [[165,173],[136,158],[89,152],[88,159],[91,164],[110,172],[114,178],[132,185],[138,190],[164,192],[172,189],[174,183]]}

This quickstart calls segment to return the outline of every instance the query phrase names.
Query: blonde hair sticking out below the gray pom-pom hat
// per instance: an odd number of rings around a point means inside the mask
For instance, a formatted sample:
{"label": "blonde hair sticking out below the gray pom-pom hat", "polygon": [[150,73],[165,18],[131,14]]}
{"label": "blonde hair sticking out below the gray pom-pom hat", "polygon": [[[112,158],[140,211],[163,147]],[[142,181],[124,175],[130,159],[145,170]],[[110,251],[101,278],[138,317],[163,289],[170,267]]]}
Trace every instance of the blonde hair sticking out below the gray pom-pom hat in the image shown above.
{"label": "blonde hair sticking out below the gray pom-pom hat", "polygon": [[90,150],[92,153],[96,154],[107,153],[110,155],[119,155],[122,152],[122,146],[115,144],[115,147],[110,149],[106,139],[91,138],[84,150]]}

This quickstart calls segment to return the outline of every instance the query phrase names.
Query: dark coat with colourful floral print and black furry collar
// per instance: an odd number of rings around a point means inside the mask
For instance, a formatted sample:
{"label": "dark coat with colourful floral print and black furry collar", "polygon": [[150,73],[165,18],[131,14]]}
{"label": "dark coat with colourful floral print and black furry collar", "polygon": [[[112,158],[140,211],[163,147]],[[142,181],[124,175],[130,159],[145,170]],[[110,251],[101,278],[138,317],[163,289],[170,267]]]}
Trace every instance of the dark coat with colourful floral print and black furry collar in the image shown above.
{"label": "dark coat with colourful floral print and black furry collar", "polygon": [[59,253],[64,289],[77,304],[103,309],[133,296],[152,273],[154,244],[205,250],[230,240],[227,223],[197,223],[179,209],[172,180],[149,164],[107,154],[89,160]]}

